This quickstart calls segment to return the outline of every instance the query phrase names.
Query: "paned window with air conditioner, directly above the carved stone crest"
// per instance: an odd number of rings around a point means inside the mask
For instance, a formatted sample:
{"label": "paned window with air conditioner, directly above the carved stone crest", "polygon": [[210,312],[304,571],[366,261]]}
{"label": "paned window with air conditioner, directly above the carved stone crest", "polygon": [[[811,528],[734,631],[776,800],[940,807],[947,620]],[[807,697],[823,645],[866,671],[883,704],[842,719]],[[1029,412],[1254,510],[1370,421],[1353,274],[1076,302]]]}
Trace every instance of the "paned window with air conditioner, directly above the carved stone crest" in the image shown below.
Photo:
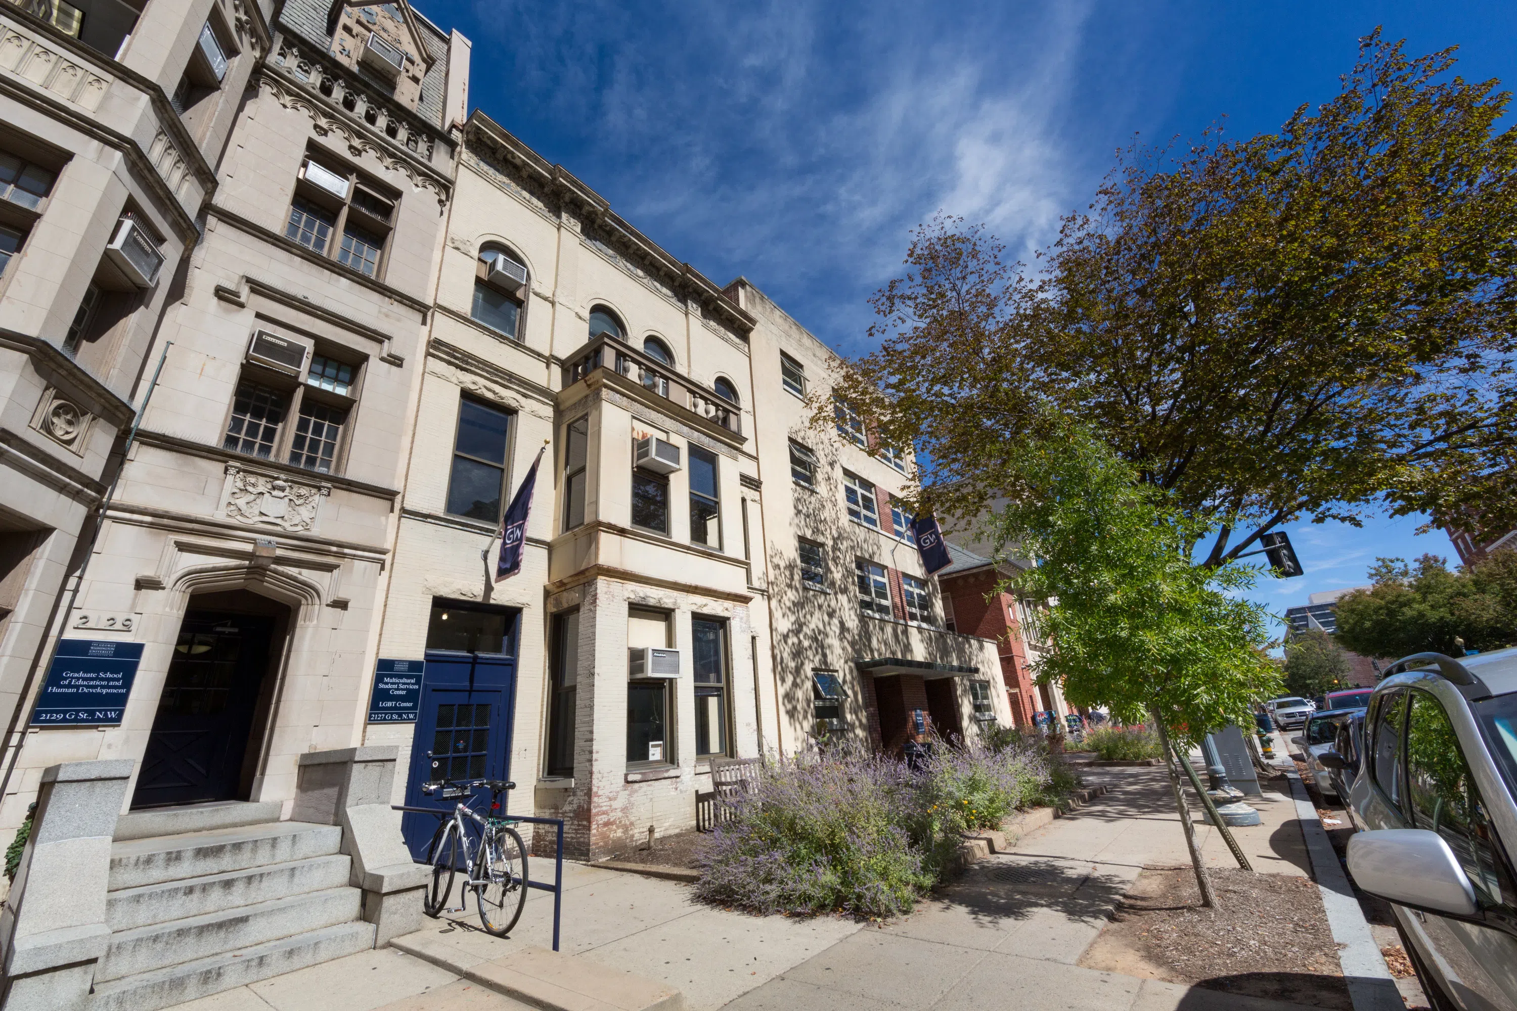
{"label": "paned window with air conditioner, directly above the carved stone crest", "polygon": [[[80,332],[88,323],[80,324]],[[275,368],[261,353],[284,347],[291,358]],[[361,367],[259,330],[232,396],[223,449],[281,459],[322,474],[340,468],[347,423],[356,408]],[[294,373],[294,374],[291,374]]]}

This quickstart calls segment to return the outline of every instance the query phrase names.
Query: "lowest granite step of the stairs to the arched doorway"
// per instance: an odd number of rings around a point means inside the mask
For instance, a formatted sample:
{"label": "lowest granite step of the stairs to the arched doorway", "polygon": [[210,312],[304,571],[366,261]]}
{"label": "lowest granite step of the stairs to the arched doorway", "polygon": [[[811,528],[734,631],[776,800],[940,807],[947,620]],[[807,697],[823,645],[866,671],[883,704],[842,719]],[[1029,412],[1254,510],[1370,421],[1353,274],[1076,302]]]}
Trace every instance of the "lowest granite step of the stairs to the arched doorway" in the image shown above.
{"label": "lowest granite step of the stairs to the arched doorway", "polygon": [[355,955],[375,944],[373,923],[338,923],[167,969],[96,984],[90,1011],[159,1011],[270,976]]}

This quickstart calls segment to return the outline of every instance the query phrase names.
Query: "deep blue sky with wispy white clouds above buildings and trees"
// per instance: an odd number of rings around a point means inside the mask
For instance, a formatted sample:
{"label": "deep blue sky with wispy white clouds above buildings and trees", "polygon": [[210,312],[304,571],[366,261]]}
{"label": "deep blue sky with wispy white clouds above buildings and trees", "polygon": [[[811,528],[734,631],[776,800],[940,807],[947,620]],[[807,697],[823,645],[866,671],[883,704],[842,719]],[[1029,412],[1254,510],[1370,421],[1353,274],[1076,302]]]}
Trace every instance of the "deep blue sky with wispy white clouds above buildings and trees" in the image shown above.
{"label": "deep blue sky with wispy white clouds above buildings and trees", "polygon": [[[1517,5],[420,2],[473,39],[473,103],[718,283],[746,276],[842,353],[938,211],[1019,255],[1088,203],[1135,133],[1252,135],[1338,88],[1376,24],[1517,80]],[[1415,518],[1289,527],[1274,609],[1449,555]]]}

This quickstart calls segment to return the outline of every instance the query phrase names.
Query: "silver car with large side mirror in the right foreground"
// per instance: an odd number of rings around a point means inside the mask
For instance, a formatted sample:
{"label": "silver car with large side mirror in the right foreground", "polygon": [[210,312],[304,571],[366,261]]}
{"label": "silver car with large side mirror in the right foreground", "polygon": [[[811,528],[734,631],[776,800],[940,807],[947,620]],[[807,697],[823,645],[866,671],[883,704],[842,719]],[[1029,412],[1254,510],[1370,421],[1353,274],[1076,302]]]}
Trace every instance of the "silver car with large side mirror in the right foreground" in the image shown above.
{"label": "silver car with large side mirror in the right foreground", "polygon": [[1387,673],[1349,793],[1364,829],[1349,870],[1393,903],[1435,1011],[1517,1011],[1517,649]]}

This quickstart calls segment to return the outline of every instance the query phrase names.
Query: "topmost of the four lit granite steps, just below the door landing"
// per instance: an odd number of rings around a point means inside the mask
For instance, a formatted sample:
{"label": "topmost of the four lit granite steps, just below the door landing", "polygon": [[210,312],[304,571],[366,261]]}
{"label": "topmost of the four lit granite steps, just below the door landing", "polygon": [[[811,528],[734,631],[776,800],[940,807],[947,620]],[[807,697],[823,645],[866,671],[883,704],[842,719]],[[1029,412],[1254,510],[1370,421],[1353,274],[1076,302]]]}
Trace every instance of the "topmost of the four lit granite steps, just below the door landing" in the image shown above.
{"label": "topmost of the four lit granite steps, just below the door landing", "polygon": [[111,846],[111,890],[140,888],[187,876],[331,856],[341,849],[335,825],[275,822],[117,841]]}

